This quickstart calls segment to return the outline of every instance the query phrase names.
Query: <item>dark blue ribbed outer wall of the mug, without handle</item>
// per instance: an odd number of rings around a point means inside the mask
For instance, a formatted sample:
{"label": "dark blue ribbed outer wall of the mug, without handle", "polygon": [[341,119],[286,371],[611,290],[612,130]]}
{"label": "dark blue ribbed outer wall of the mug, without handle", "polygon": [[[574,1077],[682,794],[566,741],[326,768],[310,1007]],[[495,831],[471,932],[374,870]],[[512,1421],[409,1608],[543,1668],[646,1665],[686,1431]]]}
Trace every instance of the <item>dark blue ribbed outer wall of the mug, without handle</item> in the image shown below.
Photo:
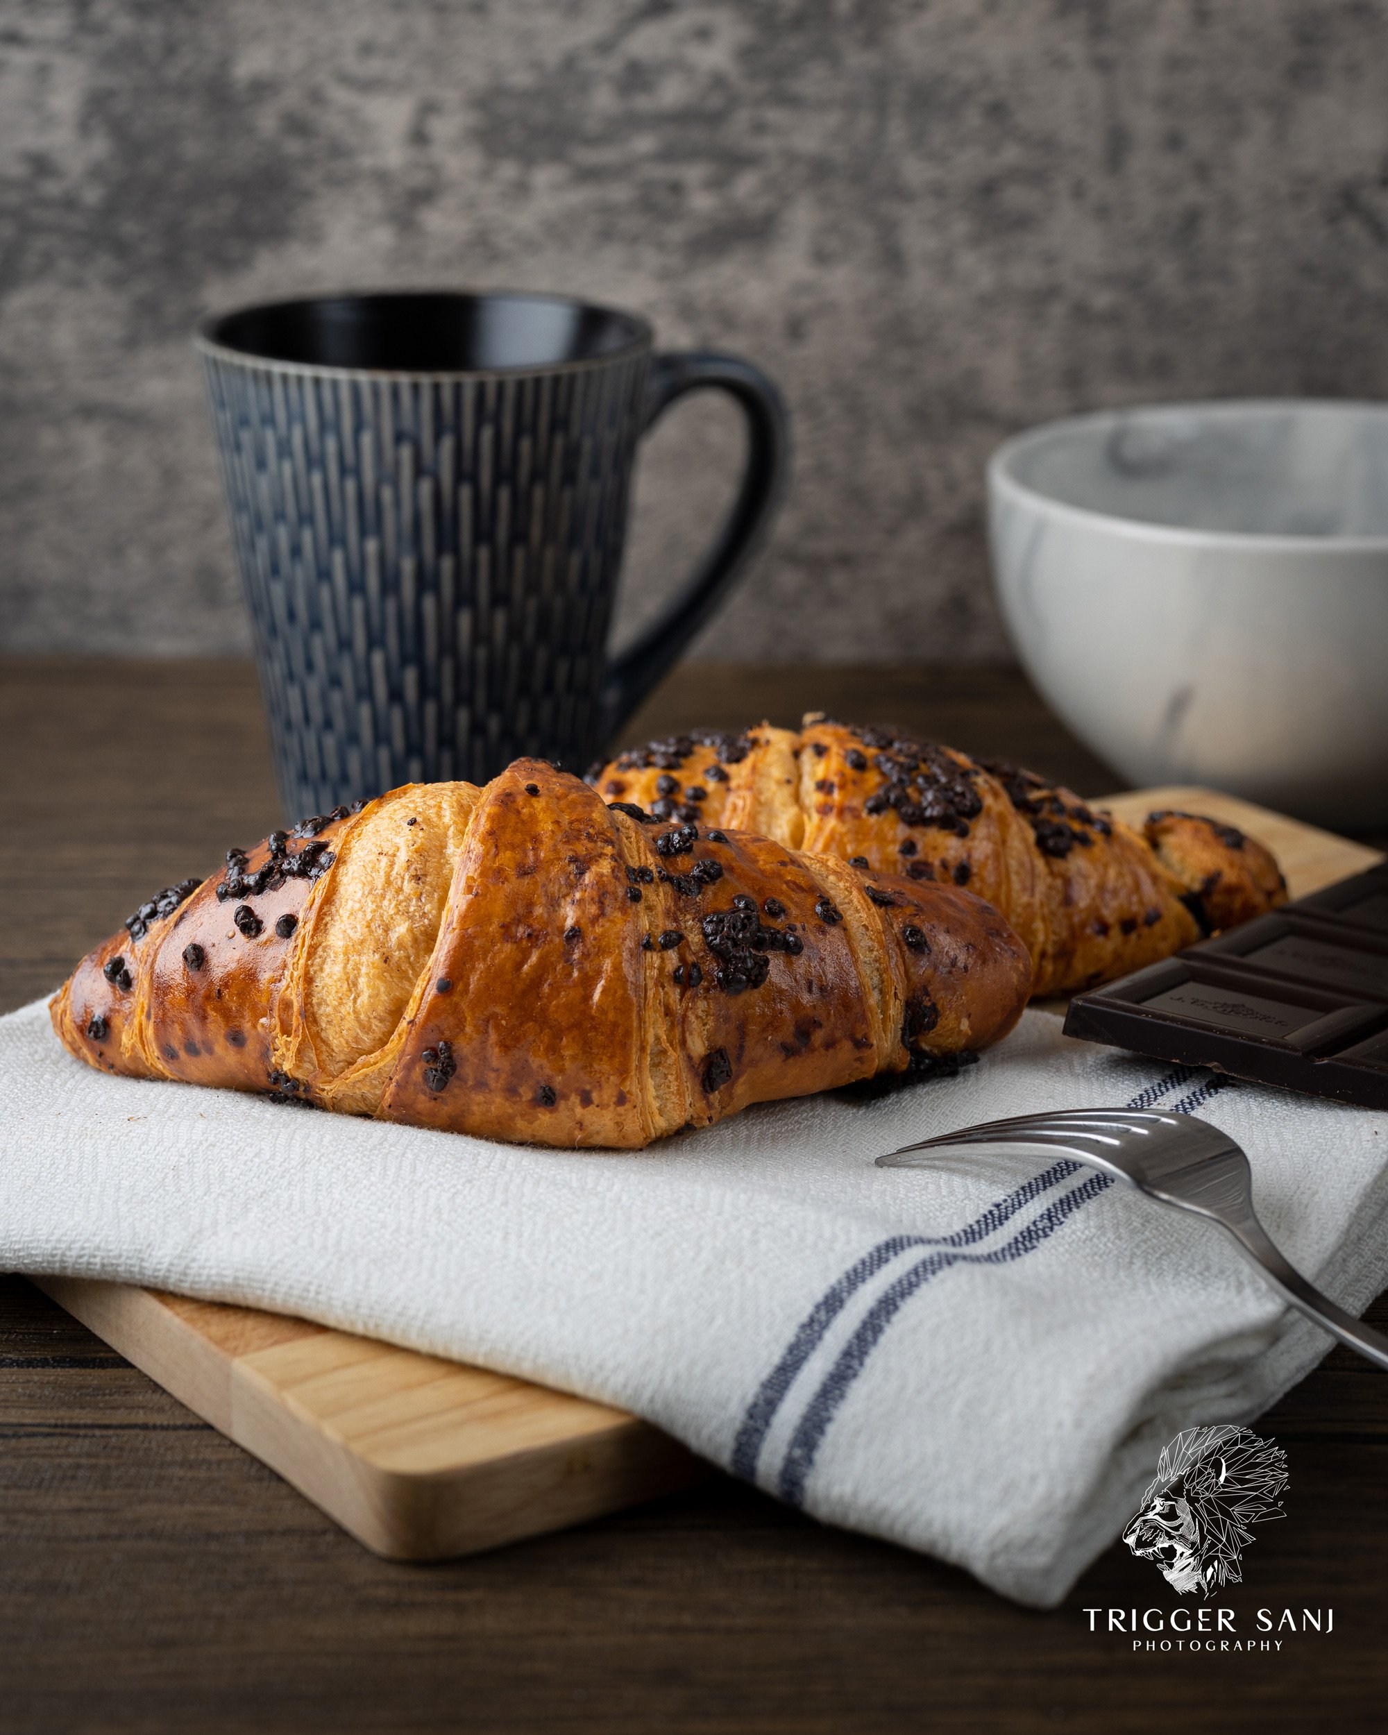
{"label": "dark blue ribbed outer wall of the mug, without handle", "polygon": [[460,378],[203,366],[286,812],[592,756],[645,350]]}

